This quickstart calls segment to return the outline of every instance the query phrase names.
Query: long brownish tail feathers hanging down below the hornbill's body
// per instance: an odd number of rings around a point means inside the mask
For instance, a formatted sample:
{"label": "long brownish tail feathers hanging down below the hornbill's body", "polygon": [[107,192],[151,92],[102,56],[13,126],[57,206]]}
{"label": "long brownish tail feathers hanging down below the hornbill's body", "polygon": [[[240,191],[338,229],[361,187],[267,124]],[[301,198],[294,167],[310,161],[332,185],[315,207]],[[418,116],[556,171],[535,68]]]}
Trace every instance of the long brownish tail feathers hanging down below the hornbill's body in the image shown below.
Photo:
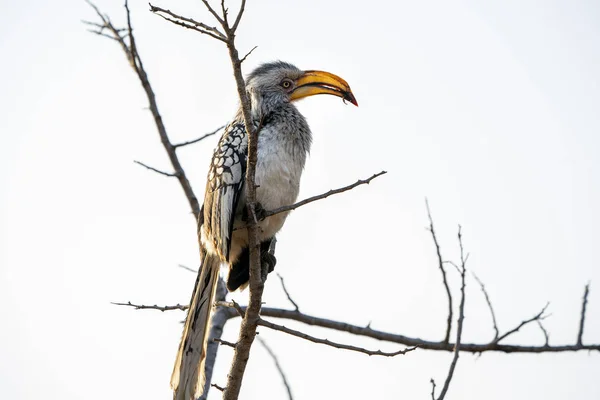
{"label": "long brownish tail feathers hanging down below the hornbill's body", "polygon": [[194,400],[200,397],[204,390],[204,360],[210,314],[219,279],[219,265],[218,257],[206,254],[198,272],[171,376],[173,400]]}

